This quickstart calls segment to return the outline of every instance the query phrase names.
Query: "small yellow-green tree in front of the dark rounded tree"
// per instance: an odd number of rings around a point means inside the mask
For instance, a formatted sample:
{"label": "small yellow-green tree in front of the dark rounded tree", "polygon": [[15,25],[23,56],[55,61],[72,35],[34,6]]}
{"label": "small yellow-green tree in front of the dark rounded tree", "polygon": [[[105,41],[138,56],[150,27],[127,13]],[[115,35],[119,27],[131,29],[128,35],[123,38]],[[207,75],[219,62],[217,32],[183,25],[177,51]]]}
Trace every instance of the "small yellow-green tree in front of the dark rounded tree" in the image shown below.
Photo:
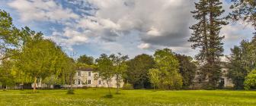
{"label": "small yellow-green tree in front of the dark rounded tree", "polygon": [[148,73],[148,76],[149,76],[149,81],[150,83],[153,84],[153,87],[154,87],[154,90],[155,90],[155,86],[156,85],[159,85],[160,83],[160,71],[158,69],[149,69],[149,73]]}

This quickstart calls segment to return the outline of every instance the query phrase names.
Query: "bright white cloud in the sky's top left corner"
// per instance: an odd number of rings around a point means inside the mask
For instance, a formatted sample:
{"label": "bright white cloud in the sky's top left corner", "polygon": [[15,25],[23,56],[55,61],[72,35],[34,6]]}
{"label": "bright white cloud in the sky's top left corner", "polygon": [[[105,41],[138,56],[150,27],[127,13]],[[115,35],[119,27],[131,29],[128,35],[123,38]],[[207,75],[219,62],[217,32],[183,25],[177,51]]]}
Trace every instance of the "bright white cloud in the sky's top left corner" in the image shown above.
{"label": "bright white cloud in the sky's top left corner", "polygon": [[8,5],[18,11],[21,20],[25,22],[30,20],[59,22],[79,17],[71,9],[64,9],[53,0],[14,0],[8,2]]}

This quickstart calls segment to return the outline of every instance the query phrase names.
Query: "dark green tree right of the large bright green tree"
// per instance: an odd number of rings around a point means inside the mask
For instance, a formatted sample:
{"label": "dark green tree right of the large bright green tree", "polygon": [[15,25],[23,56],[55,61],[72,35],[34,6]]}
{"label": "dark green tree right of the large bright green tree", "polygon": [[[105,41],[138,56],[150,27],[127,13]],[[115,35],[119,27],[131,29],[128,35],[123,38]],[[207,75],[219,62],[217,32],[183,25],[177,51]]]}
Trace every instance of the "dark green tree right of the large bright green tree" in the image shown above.
{"label": "dark green tree right of the large bright green tree", "polygon": [[179,61],[179,73],[181,73],[183,87],[188,88],[193,84],[197,71],[197,63],[193,61],[193,58],[186,55],[175,55]]}

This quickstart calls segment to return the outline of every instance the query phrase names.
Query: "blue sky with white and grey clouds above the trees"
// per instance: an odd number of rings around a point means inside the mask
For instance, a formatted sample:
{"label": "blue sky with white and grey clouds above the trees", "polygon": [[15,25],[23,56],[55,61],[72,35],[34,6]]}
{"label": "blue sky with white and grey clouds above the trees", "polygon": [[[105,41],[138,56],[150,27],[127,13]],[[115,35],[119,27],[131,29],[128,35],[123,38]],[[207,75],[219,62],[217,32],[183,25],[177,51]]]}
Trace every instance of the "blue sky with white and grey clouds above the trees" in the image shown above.
{"label": "blue sky with white and grey clouds above the trees", "polygon": [[[30,27],[53,39],[68,54],[91,55],[121,52],[147,53],[155,49],[194,56],[190,27],[197,21],[190,11],[197,0],[1,0],[0,9],[13,17],[17,27]],[[229,0],[221,0],[229,12]],[[221,30],[226,36],[225,55],[242,39],[251,39],[252,27],[230,23]]]}

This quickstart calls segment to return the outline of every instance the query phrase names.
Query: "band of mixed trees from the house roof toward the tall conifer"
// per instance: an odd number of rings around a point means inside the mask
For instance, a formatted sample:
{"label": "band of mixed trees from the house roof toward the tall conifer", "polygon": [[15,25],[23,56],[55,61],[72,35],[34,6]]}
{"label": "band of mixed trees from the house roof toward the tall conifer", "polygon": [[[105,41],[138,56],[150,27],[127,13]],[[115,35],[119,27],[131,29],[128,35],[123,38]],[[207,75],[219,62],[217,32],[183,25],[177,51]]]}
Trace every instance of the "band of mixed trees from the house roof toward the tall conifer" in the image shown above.
{"label": "band of mixed trees from the house roof toward the tall conifer", "polygon": [[95,65],[101,79],[110,82],[116,76],[117,86],[124,89],[188,89],[194,82],[197,63],[186,55],[178,55],[165,48],[151,55],[101,55],[95,59],[82,55],[78,63]]}

